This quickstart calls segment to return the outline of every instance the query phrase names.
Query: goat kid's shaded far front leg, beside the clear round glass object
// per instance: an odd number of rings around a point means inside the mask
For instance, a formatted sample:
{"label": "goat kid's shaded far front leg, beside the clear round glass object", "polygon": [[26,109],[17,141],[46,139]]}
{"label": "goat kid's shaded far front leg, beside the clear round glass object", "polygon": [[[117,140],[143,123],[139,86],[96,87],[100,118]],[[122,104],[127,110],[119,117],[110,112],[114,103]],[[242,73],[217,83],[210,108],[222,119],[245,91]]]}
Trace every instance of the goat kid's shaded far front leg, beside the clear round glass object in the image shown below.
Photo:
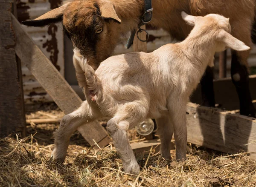
{"label": "goat kid's shaded far front leg, beside the clear round glass object", "polygon": [[156,119],[158,125],[158,132],[160,135],[161,146],[160,150],[163,158],[171,160],[171,140],[173,135],[173,126],[170,116],[163,116]]}

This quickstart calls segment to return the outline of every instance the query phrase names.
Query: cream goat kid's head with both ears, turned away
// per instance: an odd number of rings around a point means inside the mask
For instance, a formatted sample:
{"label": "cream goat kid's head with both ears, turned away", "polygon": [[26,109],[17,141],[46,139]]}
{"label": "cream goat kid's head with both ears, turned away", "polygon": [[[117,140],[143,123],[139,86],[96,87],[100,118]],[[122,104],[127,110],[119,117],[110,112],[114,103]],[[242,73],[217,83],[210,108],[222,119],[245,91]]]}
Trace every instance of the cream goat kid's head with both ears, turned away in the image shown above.
{"label": "cream goat kid's head with both ears, turned away", "polygon": [[197,26],[195,33],[212,37],[215,41],[215,52],[222,52],[227,47],[236,51],[246,51],[250,47],[246,46],[242,41],[236,39],[232,35],[229,18],[218,14],[208,14],[204,17],[188,15],[181,13],[183,20],[191,26]]}

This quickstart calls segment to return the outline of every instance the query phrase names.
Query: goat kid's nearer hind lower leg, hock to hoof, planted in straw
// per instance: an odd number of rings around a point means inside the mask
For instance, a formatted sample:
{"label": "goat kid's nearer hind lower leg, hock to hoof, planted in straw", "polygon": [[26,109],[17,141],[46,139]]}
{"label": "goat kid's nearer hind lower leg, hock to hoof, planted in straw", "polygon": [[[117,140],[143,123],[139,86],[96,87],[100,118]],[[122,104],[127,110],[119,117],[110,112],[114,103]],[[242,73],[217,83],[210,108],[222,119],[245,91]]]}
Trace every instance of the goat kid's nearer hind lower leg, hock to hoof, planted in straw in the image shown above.
{"label": "goat kid's nearer hind lower leg, hock to hoof, planted in straw", "polygon": [[122,159],[123,168],[126,173],[138,175],[140,166],[136,161],[133,150],[127,135],[129,129],[128,121],[118,121],[117,118],[111,118],[107,124],[107,130],[113,138],[116,151]]}

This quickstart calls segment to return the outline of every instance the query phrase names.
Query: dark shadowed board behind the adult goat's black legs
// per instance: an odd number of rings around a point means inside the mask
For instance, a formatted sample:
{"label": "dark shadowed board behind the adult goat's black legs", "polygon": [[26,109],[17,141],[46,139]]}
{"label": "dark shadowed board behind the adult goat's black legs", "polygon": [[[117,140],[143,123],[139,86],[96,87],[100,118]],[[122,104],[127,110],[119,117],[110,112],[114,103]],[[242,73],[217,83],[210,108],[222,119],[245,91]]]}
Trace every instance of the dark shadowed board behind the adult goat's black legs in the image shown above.
{"label": "dark shadowed board behind the adult goat's black legs", "polygon": [[[231,78],[215,80],[214,83],[216,104],[221,104],[221,108],[227,110],[239,109],[239,98],[236,93],[236,87],[233,85]],[[253,100],[256,100],[256,75],[250,75],[249,86]],[[201,104],[201,85],[195,90],[191,97],[191,102]]]}

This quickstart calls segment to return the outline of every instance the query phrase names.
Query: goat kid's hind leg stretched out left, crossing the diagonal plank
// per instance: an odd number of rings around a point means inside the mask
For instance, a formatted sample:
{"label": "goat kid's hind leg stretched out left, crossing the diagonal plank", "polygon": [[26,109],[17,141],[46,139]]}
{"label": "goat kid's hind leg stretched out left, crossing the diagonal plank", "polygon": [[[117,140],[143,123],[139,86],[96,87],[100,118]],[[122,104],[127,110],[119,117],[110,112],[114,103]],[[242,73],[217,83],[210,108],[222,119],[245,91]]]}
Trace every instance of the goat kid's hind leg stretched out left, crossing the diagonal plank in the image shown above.
{"label": "goat kid's hind leg stretched out left, crossing the diagonal plank", "polygon": [[97,115],[99,115],[97,109],[90,108],[87,101],[84,101],[78,109],[62,118],[59,129],[54,132],[55,148],[52,152],[54,160],[64,161],[70,136],[81,125],[93,121]]}

